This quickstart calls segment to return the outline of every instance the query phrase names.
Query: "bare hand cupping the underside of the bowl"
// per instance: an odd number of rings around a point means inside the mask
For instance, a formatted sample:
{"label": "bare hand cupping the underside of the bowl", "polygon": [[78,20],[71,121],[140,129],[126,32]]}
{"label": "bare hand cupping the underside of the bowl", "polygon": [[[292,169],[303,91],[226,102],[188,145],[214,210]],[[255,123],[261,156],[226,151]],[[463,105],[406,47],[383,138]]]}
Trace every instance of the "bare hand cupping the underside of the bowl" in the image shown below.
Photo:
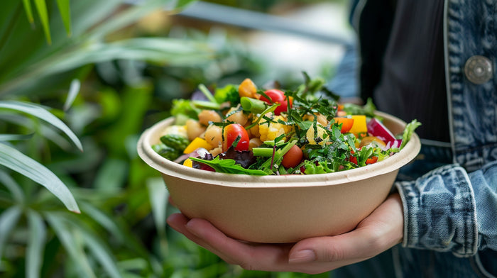
{"label": "bare hand cupping the underside of the bowl", "polygon": [[317,274],[361,262],[388,250],[403,238],[403,206],[391,194],[349,233],[307,238],[292,244],[246,243],[229,238],[200,218],[187,219],[180,213],[168,224],[222,260],[244,269]]}

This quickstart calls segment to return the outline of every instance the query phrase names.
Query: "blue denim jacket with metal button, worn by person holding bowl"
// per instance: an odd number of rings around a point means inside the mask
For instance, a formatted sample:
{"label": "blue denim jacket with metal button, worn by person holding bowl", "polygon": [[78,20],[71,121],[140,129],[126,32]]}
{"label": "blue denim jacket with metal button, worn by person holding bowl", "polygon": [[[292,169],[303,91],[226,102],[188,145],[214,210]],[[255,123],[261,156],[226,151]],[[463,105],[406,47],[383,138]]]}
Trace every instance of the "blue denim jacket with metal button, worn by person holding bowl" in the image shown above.
{"label": "blue denim jacket with metal button, worn by person holding bowl", "polygon": [[[369,19],[379,16],[383,18],[379,24],[388,24],[394,11],[387,2],[392,0],[352,1],[350,19],[360,40],[368,39],[359,32],[360,25],[378,24]],[[452,265],[430,273],[425,267],[427,275],[493,277],[497,275],[497,1],[445,0],[444,5],[451,143],[447,148],[424,144],[424,159],[401,169],[400,179],[405,175],[413,179],[395,182],[405,219],[403,248],[397,252],[411,261],[422,260],[417,251],[430,252],[431,258],[439,258],[437,262]],[[373,40],[381,43],[388,38],[388,28],[376,30],[379,38]],[[361,85],[367,82],[359,80]],[[406,258],[398,262],[423,267],[422,262]],[[465,265],[471,269],[462,269]],[[408,267],[399,271],[419,277]]]}

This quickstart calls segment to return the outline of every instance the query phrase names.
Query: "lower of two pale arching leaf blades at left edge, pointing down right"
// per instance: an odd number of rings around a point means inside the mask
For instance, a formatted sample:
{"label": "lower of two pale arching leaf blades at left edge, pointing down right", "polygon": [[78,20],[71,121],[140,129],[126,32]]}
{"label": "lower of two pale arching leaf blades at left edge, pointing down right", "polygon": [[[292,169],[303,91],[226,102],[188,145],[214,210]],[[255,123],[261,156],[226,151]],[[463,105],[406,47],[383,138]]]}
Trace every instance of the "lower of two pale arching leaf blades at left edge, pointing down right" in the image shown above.
{"label": "lower of two pale arching leaf blades at left edge, pointing down right", "polygon": [[74,197],[64,183],[49,169],[15,148],[0,143],[0,165],[33,179],[62,201],[70,211],[80,213]]}

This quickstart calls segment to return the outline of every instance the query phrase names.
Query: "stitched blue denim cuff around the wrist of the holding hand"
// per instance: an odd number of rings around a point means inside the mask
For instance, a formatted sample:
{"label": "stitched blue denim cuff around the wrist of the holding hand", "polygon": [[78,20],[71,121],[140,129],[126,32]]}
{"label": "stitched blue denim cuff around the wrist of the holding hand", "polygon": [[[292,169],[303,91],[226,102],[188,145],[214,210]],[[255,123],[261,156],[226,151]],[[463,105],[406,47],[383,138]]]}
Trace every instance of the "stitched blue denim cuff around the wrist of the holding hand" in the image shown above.
{"label": "stitched blue denim cuff around the wrist of the holding hand", "polygon": [[404,208],[404,247],[476,254],[476,202],[464,168],[447,165],[395,187]]}

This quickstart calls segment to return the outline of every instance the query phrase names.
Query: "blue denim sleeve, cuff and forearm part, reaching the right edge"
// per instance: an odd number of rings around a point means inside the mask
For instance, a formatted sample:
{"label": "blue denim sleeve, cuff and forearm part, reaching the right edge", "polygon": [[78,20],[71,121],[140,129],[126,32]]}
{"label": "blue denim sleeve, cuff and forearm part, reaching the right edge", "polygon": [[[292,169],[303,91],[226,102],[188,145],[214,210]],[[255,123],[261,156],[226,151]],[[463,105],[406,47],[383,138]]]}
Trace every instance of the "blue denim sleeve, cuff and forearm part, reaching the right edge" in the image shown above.
{"label": "blue denim sleeve, cuff and forearm part, reaching the right edge", "polygon": [[470,174],[447,165],[395,187],[404,207],[404,247],[459,257],[497,250],[497,162]]}

